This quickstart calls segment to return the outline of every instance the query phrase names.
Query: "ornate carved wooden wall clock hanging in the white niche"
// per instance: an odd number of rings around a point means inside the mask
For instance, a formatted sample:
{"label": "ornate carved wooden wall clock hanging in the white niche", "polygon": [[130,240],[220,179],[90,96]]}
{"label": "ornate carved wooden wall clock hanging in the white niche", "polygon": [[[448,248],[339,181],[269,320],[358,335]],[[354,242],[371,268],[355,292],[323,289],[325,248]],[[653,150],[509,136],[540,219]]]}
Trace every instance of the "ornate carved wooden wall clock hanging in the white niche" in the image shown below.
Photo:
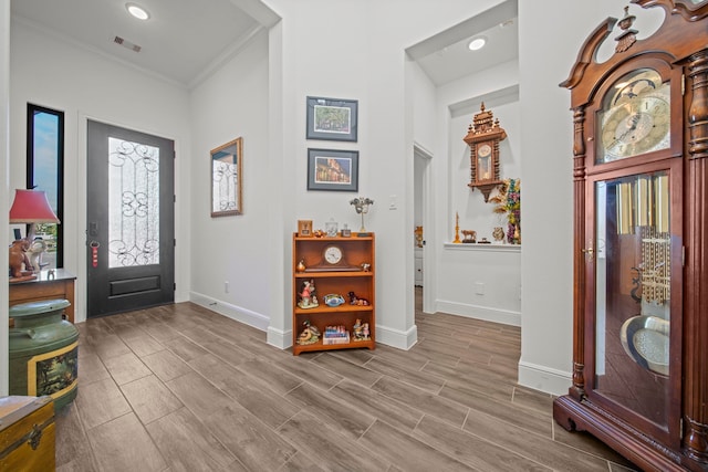
{"label": "ornate carved wooden wall clock hanging in the white niche", "polygon": [[507,132],[499,126],[499,119],[494,120],[493,113],[485,111],[482,103],[464,140],[470,148],[471,179],[468,187],[479,189],[486,202],[492,189],[503,185],[499,178],[499,143],[506,138]]}

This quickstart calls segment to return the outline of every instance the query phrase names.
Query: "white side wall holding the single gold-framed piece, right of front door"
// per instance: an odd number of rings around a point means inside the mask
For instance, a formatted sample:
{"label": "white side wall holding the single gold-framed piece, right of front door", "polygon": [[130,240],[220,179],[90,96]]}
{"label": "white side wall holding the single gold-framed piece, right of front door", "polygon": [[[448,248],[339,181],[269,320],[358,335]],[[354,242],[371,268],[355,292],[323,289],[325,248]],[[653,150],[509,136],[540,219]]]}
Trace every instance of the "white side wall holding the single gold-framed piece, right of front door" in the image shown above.
{"label": "white side wall holding the single gold-framed piece, right of front door", "polygon": [[[268,80],[268,31],[262,30],[190,97],[190,298],[261,329],[270,324],[271,294],[281,290],[268,280],[268,204],[278,185],[269,169]],[[237,137],[243,138],[243,214],[211,218],[209,150]]]}

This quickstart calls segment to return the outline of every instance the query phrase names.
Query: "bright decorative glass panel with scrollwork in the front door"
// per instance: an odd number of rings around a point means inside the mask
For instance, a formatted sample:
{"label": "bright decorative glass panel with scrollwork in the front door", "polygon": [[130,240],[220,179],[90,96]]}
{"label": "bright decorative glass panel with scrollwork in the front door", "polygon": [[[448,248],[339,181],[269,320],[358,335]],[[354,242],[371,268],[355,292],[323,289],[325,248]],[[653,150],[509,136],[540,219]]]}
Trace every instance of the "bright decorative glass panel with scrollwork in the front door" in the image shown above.
{"label": "bright decorative glass panel with scrollwork in the front door", "polygon": [[108,138],[108,268],[159,264],[159,148]]}

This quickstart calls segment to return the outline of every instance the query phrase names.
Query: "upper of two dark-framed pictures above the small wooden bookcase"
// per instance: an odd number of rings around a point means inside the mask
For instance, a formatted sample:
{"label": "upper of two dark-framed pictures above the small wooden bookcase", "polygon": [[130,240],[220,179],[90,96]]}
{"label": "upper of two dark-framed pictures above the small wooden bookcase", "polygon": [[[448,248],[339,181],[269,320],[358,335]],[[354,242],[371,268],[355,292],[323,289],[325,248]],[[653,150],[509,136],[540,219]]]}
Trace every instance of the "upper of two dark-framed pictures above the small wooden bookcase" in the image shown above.
{"label": "upper of two dark-framed pictures above the small wooden bookcase", "polygon": [[358,102],[308,97],[308,139],[356,141]]}

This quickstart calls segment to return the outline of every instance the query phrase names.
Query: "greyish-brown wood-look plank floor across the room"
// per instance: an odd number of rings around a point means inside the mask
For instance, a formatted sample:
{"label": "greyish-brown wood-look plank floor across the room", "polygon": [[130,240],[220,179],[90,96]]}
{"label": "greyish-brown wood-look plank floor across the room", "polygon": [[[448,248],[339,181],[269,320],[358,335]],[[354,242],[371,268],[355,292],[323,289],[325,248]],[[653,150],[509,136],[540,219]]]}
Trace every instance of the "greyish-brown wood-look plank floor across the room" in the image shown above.
{"label": "greyish-brown wood-look plank floor across the room", "polygon": [[294,357],[191,303],[81,323],[58,470],[634,470],[516,384],[519,328],[419,311],[416,324],[408,352]]}

